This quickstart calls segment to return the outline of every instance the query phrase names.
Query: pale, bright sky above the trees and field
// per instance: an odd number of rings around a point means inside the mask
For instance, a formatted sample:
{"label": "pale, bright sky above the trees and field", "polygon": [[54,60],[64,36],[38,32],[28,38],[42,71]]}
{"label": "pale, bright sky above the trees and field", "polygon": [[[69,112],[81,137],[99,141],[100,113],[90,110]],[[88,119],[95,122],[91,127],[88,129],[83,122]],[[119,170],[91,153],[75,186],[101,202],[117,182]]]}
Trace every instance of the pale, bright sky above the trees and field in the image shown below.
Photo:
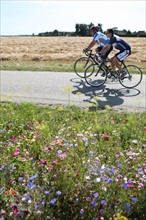
{"label": "pale, bright sky above the trees and field", "polygon": [[146,31],[146,0],[1,0],[0,35],[75,31],[75,25],[101,23],[103,30]]}

